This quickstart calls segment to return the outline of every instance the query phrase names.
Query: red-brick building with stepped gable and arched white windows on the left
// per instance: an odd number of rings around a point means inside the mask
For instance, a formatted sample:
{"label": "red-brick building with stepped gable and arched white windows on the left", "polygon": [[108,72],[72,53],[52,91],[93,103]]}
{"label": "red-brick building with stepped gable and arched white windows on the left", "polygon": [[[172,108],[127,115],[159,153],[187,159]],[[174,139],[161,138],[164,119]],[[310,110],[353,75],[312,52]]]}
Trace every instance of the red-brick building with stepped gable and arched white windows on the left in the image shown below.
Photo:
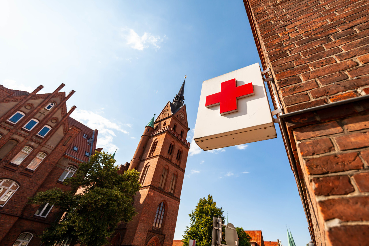
{"label": "red-brick building with stepped gable and arched white windows on the left", "polygon": [[[52,204],[27,204],[28,197],[63,185],[96,148],[92,130],[67,111],[67,96],[7,89],[0,85],[0,245],[40,245],[36,235],[60,216]],[[27,244],[28,243],[28,244]]]}

